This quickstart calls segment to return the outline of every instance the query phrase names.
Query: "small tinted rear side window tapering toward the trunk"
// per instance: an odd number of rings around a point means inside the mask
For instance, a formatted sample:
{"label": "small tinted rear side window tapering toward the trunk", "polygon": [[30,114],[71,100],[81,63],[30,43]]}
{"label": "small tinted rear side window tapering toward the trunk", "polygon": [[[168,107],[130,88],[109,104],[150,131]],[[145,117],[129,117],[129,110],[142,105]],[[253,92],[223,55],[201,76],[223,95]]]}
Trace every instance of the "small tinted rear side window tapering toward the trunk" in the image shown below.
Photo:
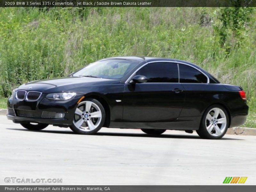
{"label": "small tinted rear side window tapering toward the trunk", "polygon": [[193,67],[179,64],[180,83],[207,83],[207,77]]}

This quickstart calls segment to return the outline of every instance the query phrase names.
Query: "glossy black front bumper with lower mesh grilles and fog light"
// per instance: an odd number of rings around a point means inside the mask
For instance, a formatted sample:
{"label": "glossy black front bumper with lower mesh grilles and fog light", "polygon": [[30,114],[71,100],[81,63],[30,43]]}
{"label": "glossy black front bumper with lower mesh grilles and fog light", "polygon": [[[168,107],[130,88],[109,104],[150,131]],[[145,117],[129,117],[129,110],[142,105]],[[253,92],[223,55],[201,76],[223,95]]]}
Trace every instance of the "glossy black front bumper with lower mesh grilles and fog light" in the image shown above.
{"label": "glossy black front bumper with lower mesh grilles and fog light", "polygon": [[[46,94],[42,94],[37,101],[16,100],[9,98],[7,101],[8,114],[7,119],[14,123],[44,123],[58,126],[71,125],[74,119],[74,113],[77,101],[83,96],[76,94],[71,100],[48,100]],[[63,113],[63,118],[56,118],[54,115],[45,116],[45,114]],[[49,118],[50,117],[50,118]]]}

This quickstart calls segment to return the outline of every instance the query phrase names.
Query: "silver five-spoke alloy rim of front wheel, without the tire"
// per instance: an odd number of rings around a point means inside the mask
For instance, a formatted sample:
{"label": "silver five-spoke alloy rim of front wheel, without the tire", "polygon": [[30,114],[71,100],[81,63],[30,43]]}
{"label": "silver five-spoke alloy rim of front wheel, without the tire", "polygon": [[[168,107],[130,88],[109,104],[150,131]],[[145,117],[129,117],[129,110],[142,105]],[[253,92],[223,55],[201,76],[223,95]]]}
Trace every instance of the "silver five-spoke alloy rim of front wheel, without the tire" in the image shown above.
{"label": "silver five-spoke alloy rim of front wheel, without the tire", "polygon": [[73,124],[84,132],[96,129],[102,119],[100,107],[92,101],[83,101],[78,104]]}

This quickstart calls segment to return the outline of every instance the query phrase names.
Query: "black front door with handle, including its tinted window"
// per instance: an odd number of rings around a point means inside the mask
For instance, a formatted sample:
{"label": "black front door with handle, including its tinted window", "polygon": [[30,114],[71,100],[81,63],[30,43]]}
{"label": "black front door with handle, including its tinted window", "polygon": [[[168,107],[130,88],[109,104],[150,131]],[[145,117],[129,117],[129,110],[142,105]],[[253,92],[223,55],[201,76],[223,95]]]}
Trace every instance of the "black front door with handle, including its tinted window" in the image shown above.
{"label": "black front door with handle, including its tinted window", "polygon": [[[146,83],[127,83],[124,90],[124,122],[137,122],[150,128],[162,128],[177,121],[185,94],[179,84],[178,65],[149,63],[135,75],[146,76]],[[138,127],[140,128],[140,127]]]}

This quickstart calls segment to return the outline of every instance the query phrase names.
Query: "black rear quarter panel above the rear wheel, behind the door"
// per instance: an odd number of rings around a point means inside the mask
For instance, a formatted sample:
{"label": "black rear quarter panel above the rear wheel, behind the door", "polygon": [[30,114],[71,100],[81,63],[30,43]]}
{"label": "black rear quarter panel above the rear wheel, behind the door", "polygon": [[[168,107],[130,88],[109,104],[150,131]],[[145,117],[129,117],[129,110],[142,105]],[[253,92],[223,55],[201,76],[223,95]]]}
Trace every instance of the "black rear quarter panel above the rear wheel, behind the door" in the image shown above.
{"label": "black rear quarter panel above the rear wheel, behind the door", "polygon": [[[186,92],[185,104],[180,117],[203,116],[206,108],[213,104],[224,106],[230,118],[247,116],[248,106],[239,95],[240,87],[224,84],[182,84]],[[227,89],[229,88],[229,90]]]}

